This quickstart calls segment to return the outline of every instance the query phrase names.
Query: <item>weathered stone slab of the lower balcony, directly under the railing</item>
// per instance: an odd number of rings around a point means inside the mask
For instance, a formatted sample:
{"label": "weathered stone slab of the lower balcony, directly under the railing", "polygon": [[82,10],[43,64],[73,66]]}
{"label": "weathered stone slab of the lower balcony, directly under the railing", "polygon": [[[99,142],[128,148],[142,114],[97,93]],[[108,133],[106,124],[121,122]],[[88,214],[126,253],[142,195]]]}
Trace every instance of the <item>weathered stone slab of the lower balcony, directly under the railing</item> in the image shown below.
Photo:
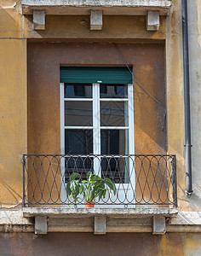
{"label": "weathered stone slab of the lower balcony, directly under the railing", "polygon": [[163,215],[175,216],[178,210],[175,208],[65,208],[65,207],[24,207],[24,217],[37,215],[51,218],[69,218],[83,216],[112,216],[112,217],[144,217]]}

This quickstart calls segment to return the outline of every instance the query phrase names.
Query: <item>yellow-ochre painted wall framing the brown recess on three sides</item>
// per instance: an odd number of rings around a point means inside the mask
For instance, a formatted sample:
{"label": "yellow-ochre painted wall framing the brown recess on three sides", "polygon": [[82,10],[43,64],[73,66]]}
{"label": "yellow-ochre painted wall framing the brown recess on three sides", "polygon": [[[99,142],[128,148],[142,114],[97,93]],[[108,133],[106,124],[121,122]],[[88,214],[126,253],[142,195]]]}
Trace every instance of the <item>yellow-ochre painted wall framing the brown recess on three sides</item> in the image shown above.
{"label": "yellow-ochre painted wall framing the brown recess on three sides", "polygon": [[[198,1],[199,13],[201,3]],[[200,15],[199,15],[200,19]],[[83,20],[86,22],[84,23]],[[22,197],[22,154],[27,144],[26,39],[64,40],[166,39],[168,153],[177,156],[179,209],[201,210],[201,197],[185,196],[184,104],[182,77],[181,1],[173,0],[169,17],[158,32],[146,32],[143,16],[104,16],[103,30],[89,31],[88,16],[47,16],[46,30],[34,31],[32,16],[21,15],[20,0],[0,0],[0,204],[14,206]],[[200,32],[200,27],[198,29]],[[199,36],[200,40],[200,36]],[[200,41],[199,41],[200,42]],[[194,113],[196,114],[196,112]],[[195,169],[194,177],[200,177]],[[196,204],[196,207],[194,207]]]}

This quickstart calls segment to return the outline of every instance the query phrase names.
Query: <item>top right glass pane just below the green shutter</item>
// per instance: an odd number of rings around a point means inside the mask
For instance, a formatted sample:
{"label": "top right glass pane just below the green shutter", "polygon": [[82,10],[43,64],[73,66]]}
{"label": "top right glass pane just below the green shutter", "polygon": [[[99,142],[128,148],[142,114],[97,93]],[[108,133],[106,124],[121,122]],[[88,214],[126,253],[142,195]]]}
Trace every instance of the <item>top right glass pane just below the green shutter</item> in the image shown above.
{"label": "top right glass pane just below the green shutter", "polygon": [[127,84],[100,84],[100,98],[127,98]]}

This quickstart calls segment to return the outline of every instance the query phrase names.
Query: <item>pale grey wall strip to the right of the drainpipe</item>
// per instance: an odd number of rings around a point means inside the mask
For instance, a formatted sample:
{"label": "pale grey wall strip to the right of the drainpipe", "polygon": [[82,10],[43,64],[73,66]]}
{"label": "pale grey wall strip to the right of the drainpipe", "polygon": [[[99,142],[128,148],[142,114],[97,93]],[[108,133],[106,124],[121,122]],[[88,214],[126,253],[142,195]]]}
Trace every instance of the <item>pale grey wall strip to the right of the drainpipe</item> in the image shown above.
{"label": "pale grey wall strip to the right of the drainpipe", "polygon": [[188,1],[192,125],[192,211],[201,203],[201,2]]}

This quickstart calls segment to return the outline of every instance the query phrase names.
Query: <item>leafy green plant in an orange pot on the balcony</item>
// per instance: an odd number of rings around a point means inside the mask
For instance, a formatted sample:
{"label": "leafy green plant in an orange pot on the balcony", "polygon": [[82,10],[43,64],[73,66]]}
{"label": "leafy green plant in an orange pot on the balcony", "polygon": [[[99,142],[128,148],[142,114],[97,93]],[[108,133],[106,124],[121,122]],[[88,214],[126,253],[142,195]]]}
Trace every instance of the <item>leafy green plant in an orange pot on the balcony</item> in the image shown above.
{"label": "leafy green plant in an orange pot on the balcony", "polygon": [[87,178],[81,181],[81,176],[78,172],[73,172],[69,178],[69,182],[66,184],[66,194],[68,198],[71,197],[76,204],[79,195],[83,195],[85,207],[91,208],[95,206],[95,199],[98,197],[99,201],[101,198],[106,197],[106,191],[112,195],[116,195],[115,184],[108,177],[101,178],[92,172],[87,173]]}

